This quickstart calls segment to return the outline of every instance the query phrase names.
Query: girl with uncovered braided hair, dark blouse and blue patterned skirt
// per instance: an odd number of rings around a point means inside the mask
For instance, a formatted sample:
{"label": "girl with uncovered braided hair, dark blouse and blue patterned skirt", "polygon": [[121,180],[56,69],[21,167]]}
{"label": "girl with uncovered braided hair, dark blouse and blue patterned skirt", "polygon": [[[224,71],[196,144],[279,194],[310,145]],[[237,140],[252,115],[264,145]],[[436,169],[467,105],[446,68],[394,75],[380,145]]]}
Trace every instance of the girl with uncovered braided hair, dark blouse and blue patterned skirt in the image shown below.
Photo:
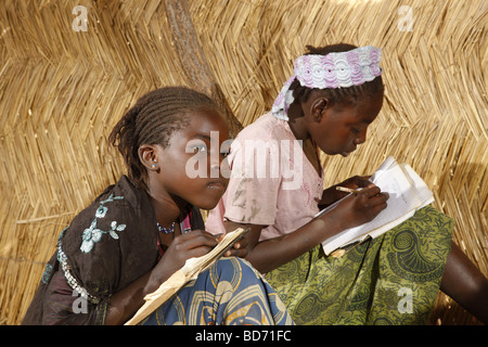
{"label": "girl with uncovered braided hair, dark blouse and blue patterned skirt", "polygon": [[[123,324],[187,259],[217,245],[200,213],[214,208],[228,184],[220,168],[227,154],[214,153],[213,131],[218,131],[220,152],[227,124],[214,101],[200,92],[168,87],[137,102],[110,136],[128,176],[62,232],[24,324]],[[191,178],[187,163],[195,155],[207,159],[207,175]],[[288,323],[261,275],[233,257],[218,260],[143,321]]]}

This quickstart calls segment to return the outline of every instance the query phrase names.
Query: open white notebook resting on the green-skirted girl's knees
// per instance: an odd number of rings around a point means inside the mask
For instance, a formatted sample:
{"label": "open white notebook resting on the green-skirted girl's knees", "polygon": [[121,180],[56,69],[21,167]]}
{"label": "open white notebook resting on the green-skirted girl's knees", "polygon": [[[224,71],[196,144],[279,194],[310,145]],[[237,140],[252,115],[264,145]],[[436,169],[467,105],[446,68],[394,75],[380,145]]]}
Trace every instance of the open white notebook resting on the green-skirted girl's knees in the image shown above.
{"label": "open white notebook resting on the green-skirted girl's knees", "polygon": [[[399,165],[391,156],[378,167],[370,181],[380,187],[382,192],[389,194],[387,207],[373,220],[325,240],[322,246],[326,255],[352,243],[377,237],[412,217],[418,209],[434,202],[434,195],[422,178],[408,164]],[[316,217],[331,210],[337,204],[338,202],[328,206]]]}

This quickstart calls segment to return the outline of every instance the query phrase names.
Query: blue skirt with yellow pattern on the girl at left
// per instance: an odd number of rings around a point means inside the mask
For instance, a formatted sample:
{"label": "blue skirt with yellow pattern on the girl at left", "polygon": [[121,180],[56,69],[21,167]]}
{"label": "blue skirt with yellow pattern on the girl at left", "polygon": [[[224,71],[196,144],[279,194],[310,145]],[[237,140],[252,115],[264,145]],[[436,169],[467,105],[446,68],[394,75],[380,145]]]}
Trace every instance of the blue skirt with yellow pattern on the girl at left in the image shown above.
{"label": "blue skirt with yellow pattern on the girl at left", "polygon": [[280,297],[241,258],[221,258],[154,311],[144,325],[293,324]]}

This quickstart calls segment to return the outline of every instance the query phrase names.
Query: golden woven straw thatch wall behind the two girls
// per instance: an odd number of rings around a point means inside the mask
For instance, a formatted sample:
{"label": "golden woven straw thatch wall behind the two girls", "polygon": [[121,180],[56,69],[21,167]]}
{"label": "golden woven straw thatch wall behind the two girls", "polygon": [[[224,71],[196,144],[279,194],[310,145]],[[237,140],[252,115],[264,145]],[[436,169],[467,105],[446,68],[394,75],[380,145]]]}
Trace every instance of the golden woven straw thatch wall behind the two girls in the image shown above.
{"label": "golden woven straw thatch wall behind the two girls", "polygon": [[[73,29],[76,5],[87,31]],[[409,163],[488,274],[487,1],[189,0],[189,13],[243,125],[270,107],[305,44],[382,47],[384,108],[355,155],[324,158],[328,182],[387,155]],[[151,89],[192,85],[178,46],[191,41],[171,33],[164,1],[1,1],[0,324],[21,322],[62,229],[124,172],[106,144],[117,119]],[[432,321],[477,324],[444,294]]]}

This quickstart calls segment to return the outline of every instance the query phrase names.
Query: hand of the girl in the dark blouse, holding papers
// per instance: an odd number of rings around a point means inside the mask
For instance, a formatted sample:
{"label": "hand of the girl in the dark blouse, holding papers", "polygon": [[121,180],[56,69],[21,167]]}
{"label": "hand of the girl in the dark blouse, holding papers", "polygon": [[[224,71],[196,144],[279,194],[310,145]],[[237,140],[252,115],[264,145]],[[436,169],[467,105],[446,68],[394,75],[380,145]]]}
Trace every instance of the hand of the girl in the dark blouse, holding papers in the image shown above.
{"label": "hand of the girl in the dark blouse, holding papers", "polygon": [[150,288],[146,290],[149,292],[157,290],[171,274],[180,270],[188,259],[206,255],[217,243],[216,235],[202,230],[193,230],[176,236],[159,262],[151,271],[147,281]]}

